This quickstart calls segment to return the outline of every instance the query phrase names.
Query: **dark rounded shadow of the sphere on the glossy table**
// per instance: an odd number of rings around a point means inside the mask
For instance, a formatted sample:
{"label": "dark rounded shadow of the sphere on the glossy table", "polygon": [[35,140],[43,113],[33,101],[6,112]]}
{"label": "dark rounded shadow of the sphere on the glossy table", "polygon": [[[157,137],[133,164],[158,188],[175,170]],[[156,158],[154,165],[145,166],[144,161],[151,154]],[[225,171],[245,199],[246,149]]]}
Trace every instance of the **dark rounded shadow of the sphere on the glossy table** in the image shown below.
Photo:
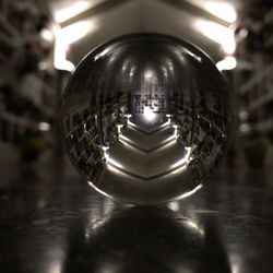
{"label": "dark rounded shadow of the sphere on the glossy table", "polygon": [[70,238],[63,272],[229,273],[214,224],[201,226],[168,209],[115,211]]}

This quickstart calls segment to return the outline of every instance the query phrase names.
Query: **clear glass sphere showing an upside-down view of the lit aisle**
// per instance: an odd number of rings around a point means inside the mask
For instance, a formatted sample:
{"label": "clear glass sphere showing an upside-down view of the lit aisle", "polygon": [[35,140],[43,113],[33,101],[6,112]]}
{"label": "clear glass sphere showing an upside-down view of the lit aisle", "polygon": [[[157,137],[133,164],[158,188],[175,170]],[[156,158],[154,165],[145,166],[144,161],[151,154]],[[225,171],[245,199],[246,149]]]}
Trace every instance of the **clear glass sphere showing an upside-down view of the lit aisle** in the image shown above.
{"label": "clear glass sphere showing an upside-down view of the lit aisle", "polygon": [[93,50],[62,99],[67,152],[97,190],[127,203],[183,198],[225,152],[230,94],[194,46],[133,34]]}

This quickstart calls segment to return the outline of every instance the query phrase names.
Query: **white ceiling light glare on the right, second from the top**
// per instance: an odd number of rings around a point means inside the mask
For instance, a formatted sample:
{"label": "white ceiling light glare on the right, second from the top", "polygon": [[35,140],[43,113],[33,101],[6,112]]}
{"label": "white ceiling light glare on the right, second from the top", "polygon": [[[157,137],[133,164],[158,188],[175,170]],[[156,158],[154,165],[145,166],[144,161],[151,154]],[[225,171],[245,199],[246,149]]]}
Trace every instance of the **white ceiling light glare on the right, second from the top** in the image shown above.
{"label": "white ceiling light glare on the right, second from the top", "polygon": [[205,20],[198,20],[195,28],[207,38],[218,43],[226,54],[232,55],[235,52],[236,43],[233,29]]}

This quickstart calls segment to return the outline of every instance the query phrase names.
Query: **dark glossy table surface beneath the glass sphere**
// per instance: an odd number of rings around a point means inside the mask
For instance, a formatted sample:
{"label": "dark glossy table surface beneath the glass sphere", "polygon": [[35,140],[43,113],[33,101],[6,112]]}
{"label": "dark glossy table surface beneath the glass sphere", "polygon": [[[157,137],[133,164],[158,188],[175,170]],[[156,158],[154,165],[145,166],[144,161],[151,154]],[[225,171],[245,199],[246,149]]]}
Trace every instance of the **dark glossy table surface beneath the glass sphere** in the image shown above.
{"label": "dark glossy table surface beneath the glass sphere", "polygon": [[221,169],[154,207],[105,198],[57,159],[13,170],[0,183],[1,272],[273,272],[270,169]]}

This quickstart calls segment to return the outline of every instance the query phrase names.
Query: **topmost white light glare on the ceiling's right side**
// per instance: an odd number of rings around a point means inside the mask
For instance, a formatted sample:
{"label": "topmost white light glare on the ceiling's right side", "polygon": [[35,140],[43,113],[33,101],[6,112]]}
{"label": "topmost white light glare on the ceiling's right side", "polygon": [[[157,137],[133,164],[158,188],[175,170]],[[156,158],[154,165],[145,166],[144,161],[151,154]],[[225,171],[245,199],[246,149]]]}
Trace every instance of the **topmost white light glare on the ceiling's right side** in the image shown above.
{"label": "topmost white light glare on the ceiling's right side", "polygon": [[234,23],[237,20],[237,12],[230,3],[204,1],[204,9],[228,23]]}

